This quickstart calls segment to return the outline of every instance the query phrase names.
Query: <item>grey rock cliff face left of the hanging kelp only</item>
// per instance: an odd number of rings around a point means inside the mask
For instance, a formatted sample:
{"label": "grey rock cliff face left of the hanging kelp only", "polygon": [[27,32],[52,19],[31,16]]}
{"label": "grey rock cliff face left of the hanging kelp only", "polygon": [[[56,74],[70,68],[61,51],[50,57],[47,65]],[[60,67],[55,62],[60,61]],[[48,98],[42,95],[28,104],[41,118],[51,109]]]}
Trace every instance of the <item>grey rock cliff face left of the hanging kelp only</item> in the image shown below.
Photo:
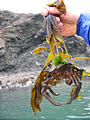
{"label": "grey rock cliff face left of the hanging kelp only", "polygon": [[8,11],[0,13],[2,18],[1,37],[5,43],[0,54],[0,71],[33,71],[38,67],[40,70],[44,61],[39,60],[41,64],[38,66],[35,61],[39,59],[39,56],[34,56],[33,50],[45,41],[45,34],[42,30],[43,17]]}

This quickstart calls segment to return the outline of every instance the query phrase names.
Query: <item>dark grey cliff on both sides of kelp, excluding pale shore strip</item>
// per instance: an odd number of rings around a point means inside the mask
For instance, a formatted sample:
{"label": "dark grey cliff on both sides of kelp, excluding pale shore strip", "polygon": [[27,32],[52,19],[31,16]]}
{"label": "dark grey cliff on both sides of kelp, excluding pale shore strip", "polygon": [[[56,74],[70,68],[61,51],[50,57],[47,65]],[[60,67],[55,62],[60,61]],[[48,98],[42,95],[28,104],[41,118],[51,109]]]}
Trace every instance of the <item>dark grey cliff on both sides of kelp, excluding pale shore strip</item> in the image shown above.
{"label": "dark grey cliff on both sides of kelp, excluding pale shore strip", "polygon": [[[40,14],[17,14],[9,11],[0,11],[0,17],[2,18],[0,71],[15,73],[40,71],[48,54],[44,52],[33,55],[33,50],[47,46],[43,17]],[[72,56],[90,56],[84,40],[70,36],[64,37],[64,41]]]}

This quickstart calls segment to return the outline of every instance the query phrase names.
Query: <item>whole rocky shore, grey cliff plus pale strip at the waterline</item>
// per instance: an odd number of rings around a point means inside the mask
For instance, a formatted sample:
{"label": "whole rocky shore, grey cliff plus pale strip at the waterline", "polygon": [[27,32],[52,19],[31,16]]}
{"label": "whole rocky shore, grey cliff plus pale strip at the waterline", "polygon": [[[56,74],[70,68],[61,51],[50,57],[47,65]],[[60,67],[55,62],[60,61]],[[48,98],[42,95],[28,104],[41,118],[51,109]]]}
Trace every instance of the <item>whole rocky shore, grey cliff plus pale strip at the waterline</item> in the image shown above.
{"label": "whole rocky shore, grey cliff plus pale strip at the waterline", "polygon": [[[47,51],[33,55],[33,50],[47,46],[40,14],[0,11],[0,90],[29,86],[43,68]],[[90,57],[90,47],[82,38],[63,37],[72,57]],[[48,46],[47,46],[48,47]],[[76,61],[80,67],[90,60]]]}

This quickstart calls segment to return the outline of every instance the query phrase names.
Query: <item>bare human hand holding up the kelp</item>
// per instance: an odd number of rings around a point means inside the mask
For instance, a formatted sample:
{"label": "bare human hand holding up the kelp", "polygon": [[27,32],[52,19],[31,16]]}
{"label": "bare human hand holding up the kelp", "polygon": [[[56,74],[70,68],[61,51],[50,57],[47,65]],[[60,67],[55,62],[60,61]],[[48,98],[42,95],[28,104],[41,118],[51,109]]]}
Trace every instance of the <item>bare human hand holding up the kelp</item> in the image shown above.
{"label": "bare human hand holding up the kelp", "polygon": [[79,19],[79,15],[74,15],[66,11],[66,14],[62,14],[55,7],[47,7],[45,6],[41,12],[42,16],[47,16],[48,14],[59,15],[56,17],[56,21],[60,30],[61,35],[63,36],[71,36],[76,33],[77,29],[77,21]]}

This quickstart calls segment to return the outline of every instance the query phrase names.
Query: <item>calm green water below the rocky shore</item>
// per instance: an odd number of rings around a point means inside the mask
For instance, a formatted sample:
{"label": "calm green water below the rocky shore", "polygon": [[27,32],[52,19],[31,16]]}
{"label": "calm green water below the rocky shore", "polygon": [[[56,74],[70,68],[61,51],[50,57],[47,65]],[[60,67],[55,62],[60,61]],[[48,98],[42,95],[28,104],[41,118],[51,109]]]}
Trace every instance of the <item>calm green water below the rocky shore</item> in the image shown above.
{"label": "calm green water below the rocky shore", "polygon": [[[54,90],[60,94],[55,101],[67,101],[71,87],[60,84]],[[90,120],[90,80],[83,81],[81,100],[71,105],[55,107],[47,100],[41,103],[38,120]],[[0,92],[0,120],[34,120],[30,107],[30,88]]]}

